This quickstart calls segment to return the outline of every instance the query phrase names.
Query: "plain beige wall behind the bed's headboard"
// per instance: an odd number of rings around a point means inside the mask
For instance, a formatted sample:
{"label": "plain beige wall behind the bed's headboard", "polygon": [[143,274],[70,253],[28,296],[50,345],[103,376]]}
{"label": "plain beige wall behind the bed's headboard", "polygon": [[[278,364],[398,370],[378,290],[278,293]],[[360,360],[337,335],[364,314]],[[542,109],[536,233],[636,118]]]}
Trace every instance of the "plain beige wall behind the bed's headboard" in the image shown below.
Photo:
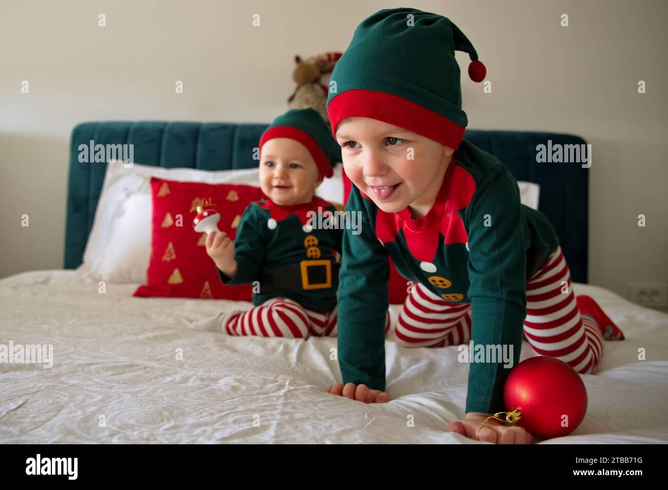
{"label": "plain beige wall behind the bed's headboard", "polygon": [[[75,124],[269,122],[294,89],[296,53],[343,51],[359,21],[403,5],[450,17],[486,64],[492,93],[462,84],[470,128],[565,132],[593,145],[590,282],[627,296],[629,282],[668,280],[665,1],[0,5],[0,277],[62,267]],[[254,13],[261,27],[252,26]],[[569,27],[560,27],[562,13]],[[458,59],[465,69],[466,55]]]}

